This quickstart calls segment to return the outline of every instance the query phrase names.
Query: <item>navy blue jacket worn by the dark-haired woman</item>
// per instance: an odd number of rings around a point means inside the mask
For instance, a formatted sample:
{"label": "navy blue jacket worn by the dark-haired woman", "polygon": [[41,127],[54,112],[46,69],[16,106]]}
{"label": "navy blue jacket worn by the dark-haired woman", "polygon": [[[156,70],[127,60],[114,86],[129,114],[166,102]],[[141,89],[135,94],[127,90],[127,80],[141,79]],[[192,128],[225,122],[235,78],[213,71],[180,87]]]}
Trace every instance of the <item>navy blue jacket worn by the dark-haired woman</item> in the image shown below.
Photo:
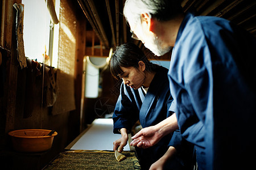
{"label": "navy blue jacket worn by the dark-haired woman", "polygon": [[[141,122],[143,128],[156,125],[159,122],[170,116],[168,111],[171,103],[172,96],[170,95],[168,69],[157,66],[158,69],[152,79],[150,87],[148,88],[146,96],[143,95],[143,90],[139,88],[134,90],[122,83],[120,95],[115,105],[113,114],[114,133],[119,133],[119,129],[126,128],[131,132],[131,128],[138,120]],[[147,149],[140,149],[141,155],[140,163],[144,169],[148,169],[150,165],[159,158],[161,158],[168,149],[168,145],[172,138],[172,134],[162,138],[155,146]],[[175,141],[175,139],[173,139]],[[175,143],[181,143],[180,138],[177,138]],[[190,152],[192,150],[189,150]],[[182,169],[183,165],[174,160],[171,169]],[[146,168],[145,168],[146,167]]]}

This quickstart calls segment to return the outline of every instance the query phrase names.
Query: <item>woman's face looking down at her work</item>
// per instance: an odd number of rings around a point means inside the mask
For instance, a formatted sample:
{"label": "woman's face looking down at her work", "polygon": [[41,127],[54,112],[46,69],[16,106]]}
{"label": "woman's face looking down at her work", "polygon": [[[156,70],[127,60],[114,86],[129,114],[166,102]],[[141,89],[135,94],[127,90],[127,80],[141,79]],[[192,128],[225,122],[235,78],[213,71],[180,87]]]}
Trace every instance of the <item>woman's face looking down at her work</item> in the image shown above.
{"label": "woman's face looking down at her work", "polygon": [[121,67],[123,74],[119,75],[120,78],[123,79],[123,83],[131,88],[138,89],[142,87],[144,80],[146,79],[144,69],[139,67],[138,69],[135,67]]}

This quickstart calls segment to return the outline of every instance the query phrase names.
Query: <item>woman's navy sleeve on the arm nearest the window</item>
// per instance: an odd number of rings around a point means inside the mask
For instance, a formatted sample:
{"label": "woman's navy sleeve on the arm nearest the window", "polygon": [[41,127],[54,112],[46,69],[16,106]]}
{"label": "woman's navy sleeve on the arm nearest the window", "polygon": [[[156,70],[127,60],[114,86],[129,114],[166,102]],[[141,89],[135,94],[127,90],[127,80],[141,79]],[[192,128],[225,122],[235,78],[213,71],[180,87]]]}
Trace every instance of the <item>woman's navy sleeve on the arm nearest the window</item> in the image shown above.
{"label": "woman's navy sleeve on the arm nearest the window", "polygon": [[120,88],[120,95],[115,104],[113,122],[113,133],[119,134],[119,129],[126,128],[128,133],[131,133],[131,128],[139,118],[139,111],[136,107],[134,96],[130,87],[126,87],[122,83]]}

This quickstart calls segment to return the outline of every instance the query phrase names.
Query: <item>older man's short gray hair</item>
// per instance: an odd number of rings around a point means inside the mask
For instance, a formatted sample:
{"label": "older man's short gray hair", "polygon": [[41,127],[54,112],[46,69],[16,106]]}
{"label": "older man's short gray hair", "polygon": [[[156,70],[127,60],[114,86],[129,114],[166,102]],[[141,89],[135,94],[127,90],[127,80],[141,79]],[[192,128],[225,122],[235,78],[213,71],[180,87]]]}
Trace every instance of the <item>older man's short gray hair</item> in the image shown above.
{"label": "older man's short gray hair", "polygon": [[123,7],[123,15],[133,24],[141,20],[143,13],[148,14],[150,18],[165,21],[180,12],[182,12],[180,0],[126,0]]}

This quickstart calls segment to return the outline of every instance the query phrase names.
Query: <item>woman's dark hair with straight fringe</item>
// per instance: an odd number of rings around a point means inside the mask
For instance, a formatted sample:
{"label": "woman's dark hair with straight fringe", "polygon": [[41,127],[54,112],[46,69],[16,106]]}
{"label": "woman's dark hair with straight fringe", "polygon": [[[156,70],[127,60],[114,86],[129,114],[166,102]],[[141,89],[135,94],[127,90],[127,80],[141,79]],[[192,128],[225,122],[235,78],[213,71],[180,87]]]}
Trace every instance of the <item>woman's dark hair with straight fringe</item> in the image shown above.
{"label": "woman's dark hair with straight fringe", "polygon": [[148,72],[155,71],[157,65],[148,61],[143,51],[133,43],[126,43],[117,46],[110,59],[110,71],[114,78],[118,79],[123,74],[121,67],[135,67],[138,69],[139,61],[145,63],[145,70]]}

